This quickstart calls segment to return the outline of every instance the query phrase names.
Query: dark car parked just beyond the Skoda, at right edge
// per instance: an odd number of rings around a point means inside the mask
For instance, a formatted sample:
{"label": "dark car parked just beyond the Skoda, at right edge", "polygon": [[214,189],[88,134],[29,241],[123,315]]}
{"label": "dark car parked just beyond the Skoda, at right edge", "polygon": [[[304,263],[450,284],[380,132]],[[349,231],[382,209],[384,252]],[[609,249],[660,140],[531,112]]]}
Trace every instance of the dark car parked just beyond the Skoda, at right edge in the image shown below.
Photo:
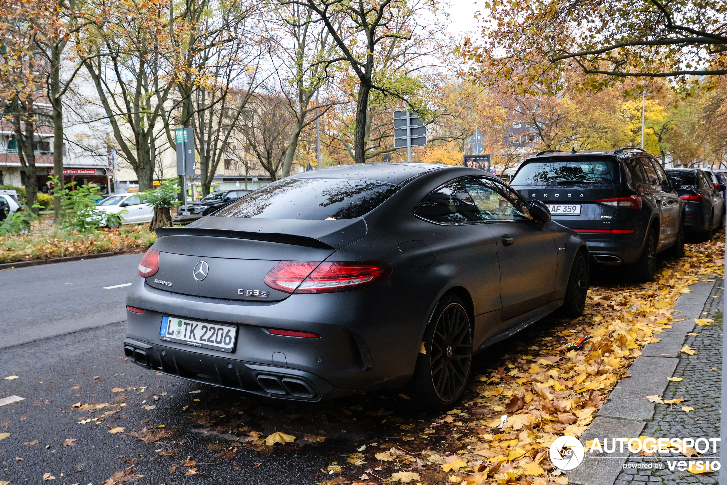
{"label": "dark car parked just beyond the Skoda, at right edge", "polygon": [[667,169],[666,172],[678,182],[677,193],[686,201],[687,233],[710,241],[712,232],[724,222],[724,185],[712,182],[709,173],[700,169]]}

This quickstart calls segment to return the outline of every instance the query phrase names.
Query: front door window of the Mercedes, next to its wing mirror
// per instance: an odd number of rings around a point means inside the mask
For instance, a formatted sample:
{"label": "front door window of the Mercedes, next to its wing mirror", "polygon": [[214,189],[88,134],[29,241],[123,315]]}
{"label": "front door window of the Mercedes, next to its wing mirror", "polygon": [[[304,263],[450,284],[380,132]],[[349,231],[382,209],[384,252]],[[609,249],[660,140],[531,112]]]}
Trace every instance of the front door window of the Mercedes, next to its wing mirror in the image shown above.
{"label": "front door window of the Mercedes, next to its wing mirror", "polygon": [[526,203],[507,186],[486,178],[465,180],[483,220],[526,220],[530,219]]}

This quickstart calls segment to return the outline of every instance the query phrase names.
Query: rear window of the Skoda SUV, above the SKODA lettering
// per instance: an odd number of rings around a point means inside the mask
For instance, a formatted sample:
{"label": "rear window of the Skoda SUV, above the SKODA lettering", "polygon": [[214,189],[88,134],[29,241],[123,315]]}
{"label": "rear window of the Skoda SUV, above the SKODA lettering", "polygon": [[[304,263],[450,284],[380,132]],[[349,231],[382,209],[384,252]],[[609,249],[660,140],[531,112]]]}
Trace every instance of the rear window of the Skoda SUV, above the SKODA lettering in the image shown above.
{"label": "rear window of the Skoda SUV, above the SKODA lettering", "polygon": [[614,162],[606,157],[549,157],[523,164],[512,185],[614,183]]}

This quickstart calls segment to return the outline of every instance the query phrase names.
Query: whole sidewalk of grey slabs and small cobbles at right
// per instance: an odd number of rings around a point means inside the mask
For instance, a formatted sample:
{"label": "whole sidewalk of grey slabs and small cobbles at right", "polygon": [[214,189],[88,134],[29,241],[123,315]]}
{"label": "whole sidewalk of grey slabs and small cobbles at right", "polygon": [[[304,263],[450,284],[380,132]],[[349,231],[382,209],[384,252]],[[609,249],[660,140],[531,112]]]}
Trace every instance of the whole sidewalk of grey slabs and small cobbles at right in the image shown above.
{"label": "whole sidewalk of grey slabs and small cobbles at right", "polygon": [[[723,286],[723,277],[702,277],[699,283],[689,287],[691,293],[681,295],[674,307],[678,310],[674,318],[686,320],[675,322],[671,329],[656,335],[661,339],[659,342],[643,348],[642,356],[630,366],[632,377],[622,379],[616,385],[582,436],[582,441],[638,436],[694,439],[720,436]],[[715,322],[699,326],[694,318],[713,318]],[[683,345],[696,350],[696,355],[679,353]],[[683,380],[671,382],[667,377],[681,377]],[[663,396],[664,400],[684,398],[686,401],[654,404],[645,398],[654,395]],[[693,407],[694,411],[684,412],[682,406]],[[672,464],[690,460],[680,453],[657,453],[651,457],[618,454],[620,458],[614,455],[608,459],[586,460],[580,468],[567,474],[569,483],[678,485],[715,484],[718,481],[719,472],[694,474],[677,468],[670,470],[667,460]],[[709,452],[700,455],[702,458],[693,457],[691,460],[718,456],[712,453],[711,447]],[[624,468],[624,463],[634,468]],[[651,468],[635,468],[638,464],[650,464]]]}

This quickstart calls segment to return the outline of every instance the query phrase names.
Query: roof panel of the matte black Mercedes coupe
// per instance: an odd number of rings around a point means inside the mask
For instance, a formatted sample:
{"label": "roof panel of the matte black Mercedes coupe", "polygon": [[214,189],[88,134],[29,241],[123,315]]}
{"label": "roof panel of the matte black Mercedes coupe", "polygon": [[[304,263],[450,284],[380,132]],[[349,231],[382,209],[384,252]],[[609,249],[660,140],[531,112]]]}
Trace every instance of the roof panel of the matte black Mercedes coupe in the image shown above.
{"label": "roof panel of the matte black Mercedes coupe", "polygon": [[[433,170],[456,167],[445,164],[345,164],[324,169],[308,170],[289,178],[358,178],[378,180],[380,182],[399,185],[411,177],[422,175]],[[462,167],[465,168],[465,167]]]}

